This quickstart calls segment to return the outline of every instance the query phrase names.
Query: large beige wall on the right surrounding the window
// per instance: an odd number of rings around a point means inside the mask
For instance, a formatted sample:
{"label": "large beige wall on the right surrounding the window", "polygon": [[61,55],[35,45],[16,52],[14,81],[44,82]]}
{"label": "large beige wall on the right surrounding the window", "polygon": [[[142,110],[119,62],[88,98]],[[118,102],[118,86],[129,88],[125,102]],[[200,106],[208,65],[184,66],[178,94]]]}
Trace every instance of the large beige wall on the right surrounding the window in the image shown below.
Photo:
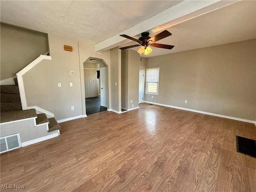
{"label": "large beige wall on the right surrounding the window", "polygon": [[160,67],[159,95],[145,94],[145,100],[256,120],[255,44],[254,39],[148,58],[147,67]]}

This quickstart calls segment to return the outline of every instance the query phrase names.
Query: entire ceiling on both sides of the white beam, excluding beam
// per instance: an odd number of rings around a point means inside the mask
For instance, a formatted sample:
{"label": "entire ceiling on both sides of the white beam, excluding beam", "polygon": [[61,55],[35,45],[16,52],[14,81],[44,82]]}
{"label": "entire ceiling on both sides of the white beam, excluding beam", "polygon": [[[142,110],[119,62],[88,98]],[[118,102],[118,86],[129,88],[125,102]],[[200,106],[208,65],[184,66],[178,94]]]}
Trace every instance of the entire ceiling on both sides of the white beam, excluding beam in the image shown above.
{"label": "entire ceiling on both sides of the white beam, excluding beam", "polygon": [[[8,24],[97,44],[179,2],[182,1],[1,1],[0,19]],[[256,1],[229,2],[231,4],[227,6],[174,26],[169,25],[171,27],[165,29],[172,36],[157,43],[175,47],[172,50],[152,48],[149,55],[142,56],[152,57],[256,38]],[[158,30],[156,27],[150,31]],[[140,34],[136,36],[139,37]],[[130,41],[121,46],[133,44],[136,42]],[[132,49],[138,50],[138,47]]]}

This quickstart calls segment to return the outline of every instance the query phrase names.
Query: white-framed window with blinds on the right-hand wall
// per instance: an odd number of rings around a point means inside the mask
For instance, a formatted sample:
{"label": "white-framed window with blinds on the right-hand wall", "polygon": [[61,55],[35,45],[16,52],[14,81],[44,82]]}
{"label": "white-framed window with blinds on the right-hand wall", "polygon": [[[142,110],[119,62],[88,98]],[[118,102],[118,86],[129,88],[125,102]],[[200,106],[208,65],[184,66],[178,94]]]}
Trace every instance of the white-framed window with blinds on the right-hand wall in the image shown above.
{"label": "white-framed window with blinds on the right-hand wall", "polygon": [[158,95],[159,67],[146,68],[146,94]]}

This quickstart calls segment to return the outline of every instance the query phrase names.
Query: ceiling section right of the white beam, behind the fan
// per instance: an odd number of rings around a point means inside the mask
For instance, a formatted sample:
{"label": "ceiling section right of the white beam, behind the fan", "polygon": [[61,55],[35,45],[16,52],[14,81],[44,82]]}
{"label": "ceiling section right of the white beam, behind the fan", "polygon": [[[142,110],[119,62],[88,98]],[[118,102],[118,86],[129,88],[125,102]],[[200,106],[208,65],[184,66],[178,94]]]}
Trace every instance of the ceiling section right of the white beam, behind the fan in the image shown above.
{"label": "ceiling section right of the white beam, behind the fan", "polygon": [[[239,1],[207,14],[192,18],[166,30],[171,36],[157,43],[170,44],[172,50],[152,48],[152,52],[142,57],[152,57],[185,50],[192,50],[238,42],[256,38],[256,1]],[[160,31],[161,32],[161,31]],[[150,34],[154,36],[157,33]],[[136,36],[139,38],[140,36]],[[122,47],[136,42],[122,44]],[[139,47],[132,48],[138,50]]]}

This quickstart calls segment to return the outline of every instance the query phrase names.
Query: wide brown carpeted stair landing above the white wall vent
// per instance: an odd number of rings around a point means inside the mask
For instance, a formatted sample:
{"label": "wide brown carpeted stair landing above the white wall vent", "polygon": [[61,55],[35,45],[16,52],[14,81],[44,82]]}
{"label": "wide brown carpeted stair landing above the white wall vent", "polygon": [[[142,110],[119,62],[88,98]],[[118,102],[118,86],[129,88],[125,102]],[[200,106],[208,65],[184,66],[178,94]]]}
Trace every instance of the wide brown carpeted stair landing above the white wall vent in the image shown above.
{"label": "wide brown carpeted stair landing above the white wall vent", "polygon": [[35,109],[28,109],[20,111],[5,111],[1,112],[0,116],[0,123],[5,123],[10,121],[32,118],[36,117],[37,115]]}

